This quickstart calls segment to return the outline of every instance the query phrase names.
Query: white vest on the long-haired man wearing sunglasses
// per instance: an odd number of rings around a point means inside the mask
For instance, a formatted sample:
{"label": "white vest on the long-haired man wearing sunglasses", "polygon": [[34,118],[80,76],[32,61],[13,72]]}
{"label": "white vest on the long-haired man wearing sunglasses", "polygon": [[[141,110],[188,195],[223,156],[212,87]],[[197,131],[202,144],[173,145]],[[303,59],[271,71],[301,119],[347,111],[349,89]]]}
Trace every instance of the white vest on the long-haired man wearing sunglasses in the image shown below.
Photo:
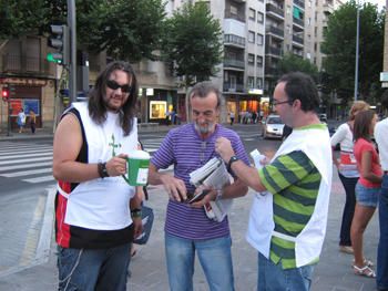
{"label": "white vest on the long-haired man wearing sunglasses", "polygon": [[[72,104],[81,115],[88,141],[89,164],[108,162],[121,153],[130,154],[137,149],[137,125],[133,118],[133,129],[124,136],[119,123],[119,114],[106,113],[103,126],[89,116],[88,103]],[[61,195],[67,195],[59,189]],[[80,183],[68,195],[64,222],[71,226],[94,230],[118,230],[132,224],[130,199],[135,188],[129,186],[121,176],[99,178]]]}

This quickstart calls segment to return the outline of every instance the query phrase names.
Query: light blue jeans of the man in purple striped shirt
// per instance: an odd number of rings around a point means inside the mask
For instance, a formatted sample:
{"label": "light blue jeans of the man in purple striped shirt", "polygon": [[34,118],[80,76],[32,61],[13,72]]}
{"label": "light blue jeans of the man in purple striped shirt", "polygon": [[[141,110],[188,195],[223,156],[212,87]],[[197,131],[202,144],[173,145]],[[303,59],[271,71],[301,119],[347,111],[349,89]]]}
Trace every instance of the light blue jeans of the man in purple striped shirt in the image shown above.
{"label": "light blue jeans of the man in purple striped shirt", "polygon": [[192,241],[165,233],[165,253],[170,289],[192,291],[195,250],[212,291],[233,291],[231,236],[205,241]]}

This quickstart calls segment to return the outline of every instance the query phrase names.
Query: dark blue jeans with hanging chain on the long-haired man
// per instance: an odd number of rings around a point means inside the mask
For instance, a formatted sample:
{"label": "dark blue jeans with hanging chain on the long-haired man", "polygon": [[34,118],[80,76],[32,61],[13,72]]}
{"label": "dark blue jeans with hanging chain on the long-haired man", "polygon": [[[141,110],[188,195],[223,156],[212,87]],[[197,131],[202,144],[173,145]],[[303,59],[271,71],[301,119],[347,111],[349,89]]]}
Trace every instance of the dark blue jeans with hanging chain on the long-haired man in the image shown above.
{"label": "dark blue jeans with hanging chain on the long-haired man", "polygon": [[[95,250],[58,246],[59,290],[125,291],[131,246],[129,242],[115,248]],[[70,279],[67,279],[69,274]]]}

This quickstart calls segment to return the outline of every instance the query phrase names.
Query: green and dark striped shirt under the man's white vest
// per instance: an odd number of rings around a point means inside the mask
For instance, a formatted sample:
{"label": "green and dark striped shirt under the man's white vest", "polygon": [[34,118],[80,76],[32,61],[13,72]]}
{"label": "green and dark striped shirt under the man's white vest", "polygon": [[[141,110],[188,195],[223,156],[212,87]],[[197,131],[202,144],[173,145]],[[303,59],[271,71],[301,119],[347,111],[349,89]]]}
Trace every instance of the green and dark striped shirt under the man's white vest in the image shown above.
{"label": "green and dark striped shirt under the man's white vest", "polygon": [[[297,237],[313,216],[321,176],[304,152],[277,157],[258,170],[264,186],[274,195],[275,231]],[[295,242],[273,237],[270,259],[283,269],[296,268]],[[316,261],[314,261],[316,262]]]}

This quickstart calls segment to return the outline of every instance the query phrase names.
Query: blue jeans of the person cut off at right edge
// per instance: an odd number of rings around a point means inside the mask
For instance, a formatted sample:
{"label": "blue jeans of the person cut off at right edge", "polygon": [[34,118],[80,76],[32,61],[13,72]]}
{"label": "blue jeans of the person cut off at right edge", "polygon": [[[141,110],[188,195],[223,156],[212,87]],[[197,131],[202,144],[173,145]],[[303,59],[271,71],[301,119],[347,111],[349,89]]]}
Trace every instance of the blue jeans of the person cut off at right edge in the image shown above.
{"label": "blue jeans of the person cut off at right edge", "polygon": [[381,191],[378,205],[378,218],[380,224],[380,240],[377,250],[377,278],[378,289],[388,289],[388,176],[382,176]]}

